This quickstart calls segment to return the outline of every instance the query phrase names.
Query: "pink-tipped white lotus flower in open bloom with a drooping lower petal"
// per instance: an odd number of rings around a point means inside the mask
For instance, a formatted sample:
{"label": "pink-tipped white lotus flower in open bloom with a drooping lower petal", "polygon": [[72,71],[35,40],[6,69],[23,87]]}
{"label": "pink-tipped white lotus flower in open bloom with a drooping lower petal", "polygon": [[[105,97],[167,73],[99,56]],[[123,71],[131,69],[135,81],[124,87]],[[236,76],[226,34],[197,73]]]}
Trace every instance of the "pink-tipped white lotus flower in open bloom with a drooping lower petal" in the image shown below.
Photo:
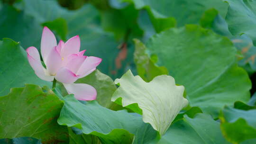
{"label": "pink-tipped white lotus flower in open bloom with a drooping lower petal", "polygon": [[41,63],[40,55],[34,46],[27,48],[27,59],[37,76],[45,81],[56,79],[63,83],[69,94],[78,100],[94,100],[97,91],[88,84],[73,83],[87,76],[101,63],[101,58],[84,56],[80,50],[80,38],[74,36],[66,43],[62,40],[57,45],[52,31],[44,27],[41,39],[41,54],[46,68]]}

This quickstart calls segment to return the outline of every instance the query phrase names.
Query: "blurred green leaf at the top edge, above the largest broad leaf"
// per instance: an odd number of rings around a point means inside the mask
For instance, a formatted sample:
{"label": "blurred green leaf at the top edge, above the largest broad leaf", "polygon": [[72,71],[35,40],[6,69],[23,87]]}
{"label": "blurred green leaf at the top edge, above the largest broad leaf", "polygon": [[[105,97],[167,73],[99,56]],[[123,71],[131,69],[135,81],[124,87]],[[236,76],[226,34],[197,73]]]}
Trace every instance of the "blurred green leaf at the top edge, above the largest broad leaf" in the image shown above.
{"label": "blurred green leaf at the top edge, above the largest broad leaf", "polygon": [[[225,18],[228,4],[222,0],[120,0],[133,2],[137,9],[149,9],[153,17],[165,18],[162,25],[176,19],[177,26],[197,24],[208,9],[217,9]],[[169,18],[169,20],[168,20]],[[174,22],[175,22],[174,19]],[[154,23],[154,21],[152,21]],[[171,24],[171,23],[169,23]]]}

